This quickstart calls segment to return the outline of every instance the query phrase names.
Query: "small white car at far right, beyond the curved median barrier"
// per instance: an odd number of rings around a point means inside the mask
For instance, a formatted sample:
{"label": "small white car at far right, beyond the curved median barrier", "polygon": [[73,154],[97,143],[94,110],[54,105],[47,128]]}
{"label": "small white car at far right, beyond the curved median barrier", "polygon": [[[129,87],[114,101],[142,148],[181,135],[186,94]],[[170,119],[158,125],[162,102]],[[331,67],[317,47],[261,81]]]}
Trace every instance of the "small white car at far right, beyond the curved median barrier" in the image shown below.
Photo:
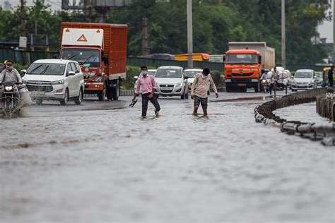
{"label": "small white car at far right, beyond the curved median barrier", "polygon": [[292,91],[307,90],[317,88],[317,77],[315,71],[310,69],[300,69],[295,71],[292,80]]}

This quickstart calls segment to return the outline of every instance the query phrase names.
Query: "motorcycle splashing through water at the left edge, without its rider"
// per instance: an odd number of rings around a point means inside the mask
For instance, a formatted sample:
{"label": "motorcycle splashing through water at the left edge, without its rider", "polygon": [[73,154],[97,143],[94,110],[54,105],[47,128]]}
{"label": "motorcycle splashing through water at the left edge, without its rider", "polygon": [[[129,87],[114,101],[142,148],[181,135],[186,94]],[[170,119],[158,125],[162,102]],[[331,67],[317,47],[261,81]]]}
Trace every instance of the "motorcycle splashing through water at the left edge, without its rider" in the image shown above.
{"label": "motorcycle splashing through water at the left edge, without its rider", "polygon": [[16,85],[18,83],[6,81],[1,86],[1,107],[5,116],[13,116],[20,110],[20,94]]}

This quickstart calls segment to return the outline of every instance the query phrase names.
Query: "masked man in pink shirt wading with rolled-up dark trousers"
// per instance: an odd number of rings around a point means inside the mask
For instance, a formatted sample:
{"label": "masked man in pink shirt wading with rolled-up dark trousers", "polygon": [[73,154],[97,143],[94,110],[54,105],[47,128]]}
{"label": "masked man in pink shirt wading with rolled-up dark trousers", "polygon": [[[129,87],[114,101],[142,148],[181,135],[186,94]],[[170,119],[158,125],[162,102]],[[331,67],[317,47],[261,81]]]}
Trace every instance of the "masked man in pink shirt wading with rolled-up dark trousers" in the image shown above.
{"label": "masked man in pink shirt wading with rolled-up dark trousers", "polygon": [[148,68],[146,66],[141,66],[141,78],[137,80],[137,87],[135,91],[135,95],[133,97],[133,102],[136,97],[139,96],[139,90],[142,85],[142,118],[146,118],[146,111],[148,110],[148,102],[153,103],[155,107],[155,115],[158,116],[158,111],[160,111],[160,106],[155,97],[154,92],[156,89],[155,78],[151,75],[148,76]]}

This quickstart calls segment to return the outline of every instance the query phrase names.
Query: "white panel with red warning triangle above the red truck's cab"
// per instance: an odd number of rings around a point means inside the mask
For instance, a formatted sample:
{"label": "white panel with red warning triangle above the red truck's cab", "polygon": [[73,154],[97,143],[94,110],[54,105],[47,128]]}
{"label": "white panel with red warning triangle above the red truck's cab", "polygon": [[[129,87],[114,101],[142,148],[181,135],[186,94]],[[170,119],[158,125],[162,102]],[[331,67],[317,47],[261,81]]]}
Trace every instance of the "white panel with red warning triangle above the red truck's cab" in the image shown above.
{"label": "white panel with red warning triangle above the red truck's cab", "polygon": [[102,29],[64,28],[61,45],[102,47]]}

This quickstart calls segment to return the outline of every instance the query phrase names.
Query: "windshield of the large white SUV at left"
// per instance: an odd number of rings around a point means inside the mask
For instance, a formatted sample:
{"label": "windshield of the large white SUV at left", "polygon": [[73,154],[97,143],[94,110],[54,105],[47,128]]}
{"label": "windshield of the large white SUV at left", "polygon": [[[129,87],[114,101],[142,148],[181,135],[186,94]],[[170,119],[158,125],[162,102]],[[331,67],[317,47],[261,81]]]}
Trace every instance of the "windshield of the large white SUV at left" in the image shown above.
{"label": "windshield of the large white SUV at left", "polygon": [[28,69],[28,74],[33,75],[63,75],[65,64],[33,63]]}

